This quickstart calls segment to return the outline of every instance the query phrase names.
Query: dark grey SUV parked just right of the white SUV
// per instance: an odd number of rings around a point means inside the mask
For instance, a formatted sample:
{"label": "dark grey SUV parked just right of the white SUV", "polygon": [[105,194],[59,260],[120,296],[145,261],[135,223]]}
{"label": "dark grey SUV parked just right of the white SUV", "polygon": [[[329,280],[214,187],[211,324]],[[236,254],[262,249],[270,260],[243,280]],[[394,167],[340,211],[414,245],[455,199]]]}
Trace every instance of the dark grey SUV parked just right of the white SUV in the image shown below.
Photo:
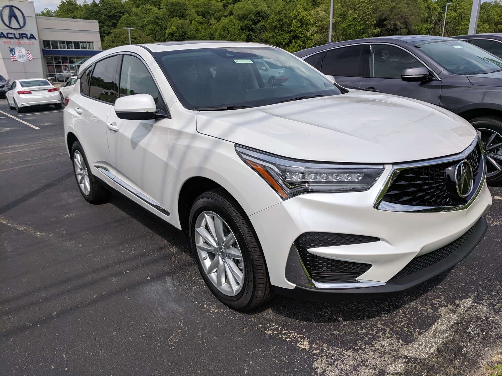
{"label": "dark grey SUV parked just right of the white SUV", "polygon": [[367,38],[295,53],[344,87],[419,99],[468,120],[483,141],[487,180],[502,183],[502,60],[435,36]]}

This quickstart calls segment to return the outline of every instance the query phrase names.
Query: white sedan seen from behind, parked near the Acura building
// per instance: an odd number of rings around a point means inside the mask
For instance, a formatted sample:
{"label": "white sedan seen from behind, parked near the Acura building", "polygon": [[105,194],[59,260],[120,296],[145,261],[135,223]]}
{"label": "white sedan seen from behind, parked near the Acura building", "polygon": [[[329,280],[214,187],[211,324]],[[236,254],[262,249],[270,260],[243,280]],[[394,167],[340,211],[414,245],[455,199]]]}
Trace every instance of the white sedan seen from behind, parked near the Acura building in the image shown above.
{"label": "white sedan seen from behind, parked near the Acura building", "polygon": [[53,104],[61,108],[61,97],[58,89],[43,78],[27,78],[16,80],[7,92],[7,101],[11,110],[23,112],[27,107]]}

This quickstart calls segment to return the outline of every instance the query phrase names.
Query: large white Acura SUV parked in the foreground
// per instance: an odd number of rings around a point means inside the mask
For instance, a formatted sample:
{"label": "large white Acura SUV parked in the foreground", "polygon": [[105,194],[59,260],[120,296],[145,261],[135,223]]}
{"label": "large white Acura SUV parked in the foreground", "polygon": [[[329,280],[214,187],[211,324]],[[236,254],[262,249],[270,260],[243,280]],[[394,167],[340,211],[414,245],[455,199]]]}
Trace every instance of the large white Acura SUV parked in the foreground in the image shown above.
{"label": "large white Acura SUV parked in the foreground", "polygon": [[[268,82],[256,61],[284,70]],[[409,290],[486,232],[483,147],[467,121],[349,91],[276,47],[117,47],[82,65],[68,97],[83,197],[117,192],[185,231],[207,286],[237,310],[274,292]]]}

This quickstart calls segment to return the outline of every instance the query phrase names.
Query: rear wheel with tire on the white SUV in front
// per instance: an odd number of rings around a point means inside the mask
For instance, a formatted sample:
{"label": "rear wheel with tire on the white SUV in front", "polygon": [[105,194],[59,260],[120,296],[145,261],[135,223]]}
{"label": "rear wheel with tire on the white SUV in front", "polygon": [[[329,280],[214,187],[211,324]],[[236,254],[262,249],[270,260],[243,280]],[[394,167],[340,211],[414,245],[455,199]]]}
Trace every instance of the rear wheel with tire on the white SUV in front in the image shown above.
{"label": "rear wheel with tire on the white SUV in front", "polygon": [[101,186],[90,172],[84,150],[78,141],[75,141],[71,147],[71,159],[75,179],[84,199],[91,204],[101,204],[108,201],[111,193]]}

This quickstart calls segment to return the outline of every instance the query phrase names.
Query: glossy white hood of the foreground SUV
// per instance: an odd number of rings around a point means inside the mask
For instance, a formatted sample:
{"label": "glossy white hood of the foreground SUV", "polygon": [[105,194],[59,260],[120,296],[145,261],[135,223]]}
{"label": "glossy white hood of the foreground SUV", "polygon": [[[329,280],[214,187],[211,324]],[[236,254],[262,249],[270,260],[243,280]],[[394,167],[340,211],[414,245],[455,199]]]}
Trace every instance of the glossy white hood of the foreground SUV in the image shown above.
{"label": "glossy white hood of the foreground SUV", "polygon": [[197,131],[292,158],[362,163],[455,154],[476,135],[467,121],[437,106],[358,90],[257,108],[200,111]]}

